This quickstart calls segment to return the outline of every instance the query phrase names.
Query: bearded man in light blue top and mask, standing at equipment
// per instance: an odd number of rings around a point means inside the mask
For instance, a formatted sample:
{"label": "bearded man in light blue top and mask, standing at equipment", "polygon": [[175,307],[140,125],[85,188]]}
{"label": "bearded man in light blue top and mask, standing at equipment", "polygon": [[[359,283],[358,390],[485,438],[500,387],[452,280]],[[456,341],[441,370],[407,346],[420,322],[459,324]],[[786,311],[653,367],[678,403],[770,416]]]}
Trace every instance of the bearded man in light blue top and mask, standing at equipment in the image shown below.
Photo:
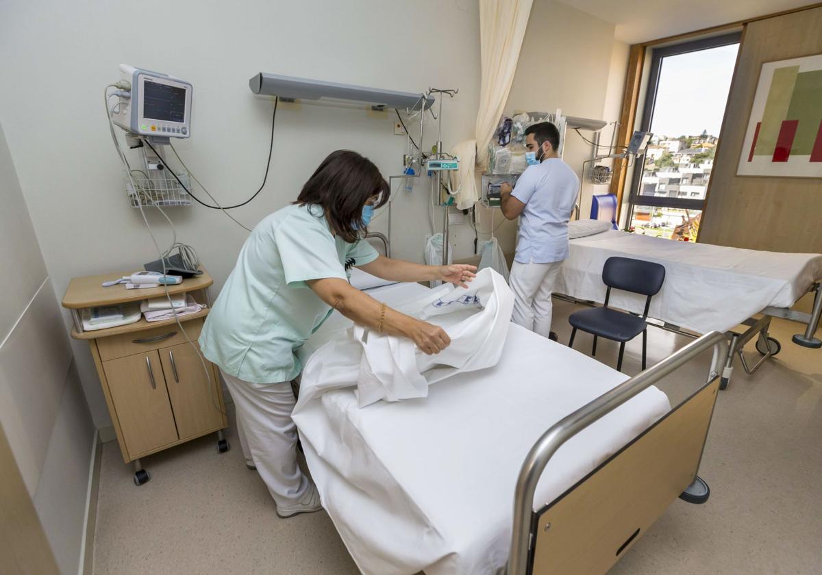
{"label": "bearded man in light blue top and mask, standing at equipment", "polygon": [[556,276],[568,257],[568,221],[580,191],[580,178],[556,150],[560,133],[551,122],[525,130],[529,165],[516,187],[503,184],[502,214],[520,218],[510,287],[514,292],[511,321],[556,340],[551,331],[551,301]]}

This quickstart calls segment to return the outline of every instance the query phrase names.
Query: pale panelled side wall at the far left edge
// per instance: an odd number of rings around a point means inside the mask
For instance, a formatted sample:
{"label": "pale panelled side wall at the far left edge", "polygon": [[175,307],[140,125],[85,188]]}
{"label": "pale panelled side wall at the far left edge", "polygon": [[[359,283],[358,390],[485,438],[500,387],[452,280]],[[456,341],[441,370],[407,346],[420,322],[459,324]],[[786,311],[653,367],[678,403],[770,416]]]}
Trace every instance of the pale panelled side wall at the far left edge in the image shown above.
{"label": "pale panelled side wall at the far left edge", "polygon": [[0,425],[62,573],[76,573],[94,426],[0,125]]}

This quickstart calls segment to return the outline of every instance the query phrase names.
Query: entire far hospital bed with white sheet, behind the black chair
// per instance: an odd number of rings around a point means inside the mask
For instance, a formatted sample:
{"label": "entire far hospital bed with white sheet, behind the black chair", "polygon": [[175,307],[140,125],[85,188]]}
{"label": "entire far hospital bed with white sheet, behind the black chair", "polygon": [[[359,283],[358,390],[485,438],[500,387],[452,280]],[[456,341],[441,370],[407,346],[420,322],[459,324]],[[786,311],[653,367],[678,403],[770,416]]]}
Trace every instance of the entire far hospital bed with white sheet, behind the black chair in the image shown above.
{"label": "entire far hospital bed with white sheet, behind the black chair", "polygon": [[[571,237],[575,229],[579,232],[590,223],[572,222]],[[555,293],[571,301],[602,303],[603,265],[612,255],[664,265],[665,283],[649,311],[657,321],[649,323],[690,337],[713,330],[726,334],[729,345],[720,389],[732,377],[735,355],[750,375],[779,352],[781,344],[768,334],[773,317],[806,324],[805,333],[795,335],[793,342],[822,347],[814,335],[822,315],[822,255],[672,242],[609,229],[607,224],[603,228],[570,240],[570,256],[562,265]],[[815,293],[810,314],[790,309],[808,292]],[[611,305],[641,314],[644,297],[621,292],[612,295]],[[753,338],[762,357],[750,366],[742,349]]]}

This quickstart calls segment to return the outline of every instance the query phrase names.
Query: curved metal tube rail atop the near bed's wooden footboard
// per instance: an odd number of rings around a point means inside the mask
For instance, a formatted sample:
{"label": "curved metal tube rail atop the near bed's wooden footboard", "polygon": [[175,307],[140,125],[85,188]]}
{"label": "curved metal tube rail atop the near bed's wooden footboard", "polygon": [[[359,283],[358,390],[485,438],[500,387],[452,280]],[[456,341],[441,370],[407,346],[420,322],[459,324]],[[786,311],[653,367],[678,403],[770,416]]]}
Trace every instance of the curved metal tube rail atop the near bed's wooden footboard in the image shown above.
{"label": "curved metal tube rail atop the near bed's wooden footboard", "polygon": [[[662,380],[674,370],[686,364],[700,353],[713,347],[713,360],[709,369],[707,383],[716,380],[722,369],[727,346],[725,336],[717,331],[705,334],[682,347],[658,364],[635,375],[611,391],[580,407],[569,416],[558,421],[547,430],[533,445],[520,469],[514,500],[514,528],[511,537],[508,560],[509,575],[528,573],[529,540],[532,537],[531,525],[533,515],[533,496],[537,483],[548,461],[562,444],[579,433],[594,421],[612,412],[615,408],[633,398],[638,393]],[[706,385],[707,385],[706,383]],[[702,438],[704,441],[704,438]]]}

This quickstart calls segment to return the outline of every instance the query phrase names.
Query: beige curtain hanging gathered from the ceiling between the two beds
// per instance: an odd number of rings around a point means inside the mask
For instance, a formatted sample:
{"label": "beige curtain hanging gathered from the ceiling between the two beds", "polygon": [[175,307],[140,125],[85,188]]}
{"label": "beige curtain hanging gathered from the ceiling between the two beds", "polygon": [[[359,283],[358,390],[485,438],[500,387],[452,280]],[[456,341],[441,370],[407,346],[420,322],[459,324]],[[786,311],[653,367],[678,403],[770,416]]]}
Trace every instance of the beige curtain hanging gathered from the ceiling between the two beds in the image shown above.
{"label": "beige curtain hanging gathered from the ceiling between the two beds", "polygon": [[496,130],[502,109],[514,81],[520,48],[528,26],[533,0],[479,0],[479,44],[482,84],[479,93],[477,126],[473,140],[455,145],[459,156],[459,209],[468,209],[479,200],[477,173],[487,165],[488,144]]}

